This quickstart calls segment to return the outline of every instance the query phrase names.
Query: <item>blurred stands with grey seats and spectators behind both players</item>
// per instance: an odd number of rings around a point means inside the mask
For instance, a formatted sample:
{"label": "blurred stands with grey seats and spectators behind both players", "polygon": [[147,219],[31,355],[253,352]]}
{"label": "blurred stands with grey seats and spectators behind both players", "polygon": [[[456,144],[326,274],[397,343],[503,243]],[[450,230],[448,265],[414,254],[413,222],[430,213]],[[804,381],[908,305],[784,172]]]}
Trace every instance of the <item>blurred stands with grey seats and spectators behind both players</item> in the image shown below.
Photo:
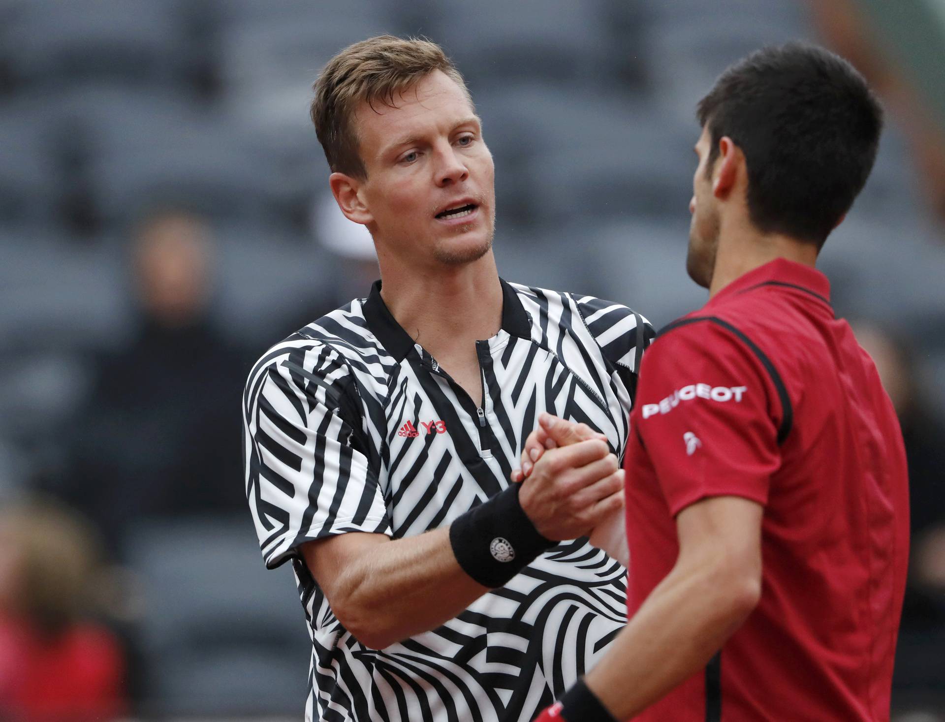
{"label": "blurred stands with grey seats and spectators behind both players", "polygon": [[377,276],[307,106],[382,32],[468,79],[500,273],[658,327],[705,298],[684,258],[714,77],[796,38],[868,76],[887,129],[821,265],[908,446],[896,718],[945,718],[941,0],[0,0],[0,718],[301,718],[309,641],[245,508],[240,395]]}

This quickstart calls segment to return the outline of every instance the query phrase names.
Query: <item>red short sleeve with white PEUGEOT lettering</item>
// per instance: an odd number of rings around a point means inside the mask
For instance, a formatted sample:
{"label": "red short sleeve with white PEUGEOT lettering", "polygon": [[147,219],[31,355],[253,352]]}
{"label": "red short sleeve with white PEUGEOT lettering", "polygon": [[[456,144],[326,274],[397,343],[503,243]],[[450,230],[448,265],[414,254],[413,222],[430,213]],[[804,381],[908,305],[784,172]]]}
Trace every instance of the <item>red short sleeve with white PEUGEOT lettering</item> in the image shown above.
{"label": "red short sleeve with white PEUGEOT lettering", "polygon": [[653,344],[633,423],[674,516],[709,496],[767,503],[781,465],[778,403],[752,348],[709,319]]}

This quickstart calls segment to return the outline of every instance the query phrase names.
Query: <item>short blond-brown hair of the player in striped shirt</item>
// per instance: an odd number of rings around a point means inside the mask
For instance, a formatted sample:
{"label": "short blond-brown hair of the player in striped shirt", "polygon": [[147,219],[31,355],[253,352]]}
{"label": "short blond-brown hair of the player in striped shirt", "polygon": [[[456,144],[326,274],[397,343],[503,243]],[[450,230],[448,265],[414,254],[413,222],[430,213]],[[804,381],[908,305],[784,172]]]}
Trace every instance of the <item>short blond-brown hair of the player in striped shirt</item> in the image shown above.
{"label": "short blond-brown hair of the player in striped shirt", "polygon": [[309,115],[332,171],[367,178],[352,122],[355,108],[374,102],[394,107],[397,95],[436,70],[453,79],[472,105],[462,75],[443,49],[428,40],[379,35],[353,43],[329,60],[315,82]]}

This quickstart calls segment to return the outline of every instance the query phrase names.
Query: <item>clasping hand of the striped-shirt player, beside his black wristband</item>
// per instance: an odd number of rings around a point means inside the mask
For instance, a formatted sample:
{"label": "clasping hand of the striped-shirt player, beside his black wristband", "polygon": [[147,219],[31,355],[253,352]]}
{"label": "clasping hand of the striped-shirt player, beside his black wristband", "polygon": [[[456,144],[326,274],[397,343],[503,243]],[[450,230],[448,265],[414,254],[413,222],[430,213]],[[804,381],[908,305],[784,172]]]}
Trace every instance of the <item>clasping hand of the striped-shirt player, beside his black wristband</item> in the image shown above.
{"label": "clasping hand of the striped-shirt player, beside his black wristband", "polygon": [[546,450],[522,484],[522,509],[545,539],[585,536],[623,507],[624,474],[618,467],[599,438]]}

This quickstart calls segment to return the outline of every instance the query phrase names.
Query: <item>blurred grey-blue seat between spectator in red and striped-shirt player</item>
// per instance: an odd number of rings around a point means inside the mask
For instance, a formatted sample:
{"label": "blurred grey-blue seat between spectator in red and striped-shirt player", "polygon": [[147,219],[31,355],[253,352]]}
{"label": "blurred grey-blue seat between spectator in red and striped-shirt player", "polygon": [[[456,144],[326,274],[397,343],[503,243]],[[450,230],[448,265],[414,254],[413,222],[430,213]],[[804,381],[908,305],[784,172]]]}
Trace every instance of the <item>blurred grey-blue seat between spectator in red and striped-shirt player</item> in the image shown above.
{"label": "blurred grey-blue seat between spectator in red and striped-shirt player", "polygon": [[288,566],[267,572],[249,519],[143,525],[139,643],[151,714],[297,712],[309,657]]}

